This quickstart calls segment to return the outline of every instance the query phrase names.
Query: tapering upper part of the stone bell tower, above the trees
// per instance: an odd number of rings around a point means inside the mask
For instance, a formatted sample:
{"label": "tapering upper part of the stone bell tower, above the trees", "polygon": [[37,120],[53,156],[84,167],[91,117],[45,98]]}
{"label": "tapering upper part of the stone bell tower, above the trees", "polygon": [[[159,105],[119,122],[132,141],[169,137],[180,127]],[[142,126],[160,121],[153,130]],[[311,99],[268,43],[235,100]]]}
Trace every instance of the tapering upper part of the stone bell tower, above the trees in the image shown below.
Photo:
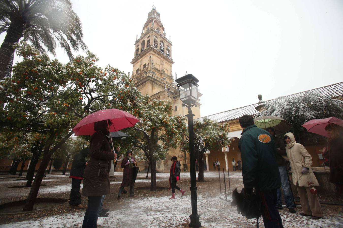
{"label": "tapering upper part of the stone bell tower, above the trees", "polygon": [[172,44],[166,37],[160,14],[155,8],[149,12],[141,37],[136,39],[134,45],[134,58],[131,62],[134,85],[142,94],[152,96],[152,99],[158,98],[158,93],[164,89],[171,95],[175,90],[171,72],[171,65],[174,63],[171,58]]}

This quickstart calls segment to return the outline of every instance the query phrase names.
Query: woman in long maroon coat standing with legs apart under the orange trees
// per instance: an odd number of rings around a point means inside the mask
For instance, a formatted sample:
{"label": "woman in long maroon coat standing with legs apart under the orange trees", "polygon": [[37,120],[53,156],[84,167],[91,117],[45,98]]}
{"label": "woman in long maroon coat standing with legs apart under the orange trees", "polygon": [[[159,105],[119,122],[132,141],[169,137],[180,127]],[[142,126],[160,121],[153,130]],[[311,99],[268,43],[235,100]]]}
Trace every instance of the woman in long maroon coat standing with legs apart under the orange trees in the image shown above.
{"label": "woman in long maroon coat standing with legs apart under the orange trees", "polygon": [[133,180],[133,167],[137,165],[136,159],[132,157],[132,150],[126,152],[126,157],[121,161],[120,167],[124,168],[123,170],[123,180],[119,188],[117,199],[121,197],[121,193],[125,186],[130,186],[130,197],[134,197],[134,180]]}

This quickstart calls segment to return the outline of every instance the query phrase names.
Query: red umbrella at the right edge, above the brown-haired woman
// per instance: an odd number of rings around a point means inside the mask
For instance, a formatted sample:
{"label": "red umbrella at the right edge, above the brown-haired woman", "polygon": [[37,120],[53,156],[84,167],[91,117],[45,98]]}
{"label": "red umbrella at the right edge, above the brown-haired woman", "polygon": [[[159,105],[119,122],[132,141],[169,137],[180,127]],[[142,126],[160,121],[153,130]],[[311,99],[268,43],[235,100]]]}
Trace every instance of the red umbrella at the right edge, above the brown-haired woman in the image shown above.
{"label": "red umbrella at the right edge, above the brown-haired woman", "polygon": [[343,126],[343,120],[338,119],[336,117],[329,117],[329,118],[320,119],[320,120],[310,120],[301,126],[306,128],[308,132],[312,132],[312,133],[316,133],[318,135],[323,135],[325,137],[329,137],[328,133],[325,131],[325,127],[329,123],[334,123],[334,124],[337,124],[339,126]]}

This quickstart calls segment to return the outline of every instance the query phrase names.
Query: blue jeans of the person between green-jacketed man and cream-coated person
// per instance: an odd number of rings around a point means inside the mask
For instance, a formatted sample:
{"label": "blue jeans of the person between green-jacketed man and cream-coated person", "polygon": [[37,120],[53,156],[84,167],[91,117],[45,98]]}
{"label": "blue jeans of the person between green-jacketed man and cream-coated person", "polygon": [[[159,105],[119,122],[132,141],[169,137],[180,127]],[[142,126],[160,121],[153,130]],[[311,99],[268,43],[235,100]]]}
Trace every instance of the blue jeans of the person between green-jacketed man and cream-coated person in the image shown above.
{"label": "blue jeans of the person between green-jacketed man and cream-coated person", "polygon": [[[283,195],[285,196],[285,203],[287,207],[294,207],[293,195],[291,191],[291,186],[289,186],[288,182],[288,173],[286,171],[286,166],[279,166],[279,172],[281,177],[281,187],[283,189]],[[276,206],[282,207],[280,188],[276,190]]]}

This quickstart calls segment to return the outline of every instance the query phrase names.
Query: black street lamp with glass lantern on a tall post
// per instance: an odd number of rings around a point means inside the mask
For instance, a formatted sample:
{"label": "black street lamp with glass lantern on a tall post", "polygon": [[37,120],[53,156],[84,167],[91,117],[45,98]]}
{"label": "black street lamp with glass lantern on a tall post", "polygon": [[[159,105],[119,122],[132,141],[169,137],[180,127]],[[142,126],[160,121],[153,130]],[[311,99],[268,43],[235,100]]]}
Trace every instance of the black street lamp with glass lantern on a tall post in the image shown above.
{"label": "black street lamp with glass lantern on a tall post", "polygon": [[201,227],[198,215],[197,203],[197,179],[195,174],[195,157],[194,157],[194,130],[193,130],[193,117],[191,107],[197,107],[198,100],[198,82],[199,80],[191,74],[185,75],[176,79],[177,87],[179,88],[180,100],[182,107],[188,108],[188,135],[189,135],[189,162],[191,171],[191,201],[192,201],[192,214],[189,216],[191,221],[189,227]]}

